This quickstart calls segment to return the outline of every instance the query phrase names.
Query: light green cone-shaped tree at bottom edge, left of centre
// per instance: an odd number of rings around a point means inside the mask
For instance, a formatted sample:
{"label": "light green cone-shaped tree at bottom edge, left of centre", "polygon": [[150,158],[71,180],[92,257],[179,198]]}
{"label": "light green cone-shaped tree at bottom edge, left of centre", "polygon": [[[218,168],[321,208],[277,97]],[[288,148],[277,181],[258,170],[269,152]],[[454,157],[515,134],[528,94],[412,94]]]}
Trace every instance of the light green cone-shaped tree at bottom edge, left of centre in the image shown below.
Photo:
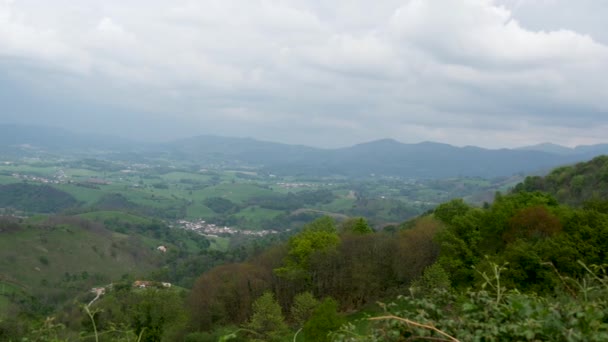
{"label": "light green cone-shaped tree at bottom edge, left of centre", "polygon": [[264,294],[253,302],[253,314],[246,324],[247,329],[257,333],[255,338],[260,337],[263,341],[279,341],[288,331],[287,324],[281,312],[281,306],[274,299],[271,292]]}

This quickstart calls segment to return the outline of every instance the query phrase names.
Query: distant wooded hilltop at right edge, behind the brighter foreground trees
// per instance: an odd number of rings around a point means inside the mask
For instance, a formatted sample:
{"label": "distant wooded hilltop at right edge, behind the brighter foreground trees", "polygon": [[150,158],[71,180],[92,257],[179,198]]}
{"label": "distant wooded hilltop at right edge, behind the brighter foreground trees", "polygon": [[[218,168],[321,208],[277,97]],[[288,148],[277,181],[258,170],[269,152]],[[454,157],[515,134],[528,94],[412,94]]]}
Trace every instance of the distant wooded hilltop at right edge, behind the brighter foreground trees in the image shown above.
{"label": "distant wooded hilltop at right edge, behind the brighter foreground trees", "polygon": [[544,177],[527,177],[515,191],[543,191],[558,201],[580,205],[591,199],[608,199],[608,156],[564,166]]}

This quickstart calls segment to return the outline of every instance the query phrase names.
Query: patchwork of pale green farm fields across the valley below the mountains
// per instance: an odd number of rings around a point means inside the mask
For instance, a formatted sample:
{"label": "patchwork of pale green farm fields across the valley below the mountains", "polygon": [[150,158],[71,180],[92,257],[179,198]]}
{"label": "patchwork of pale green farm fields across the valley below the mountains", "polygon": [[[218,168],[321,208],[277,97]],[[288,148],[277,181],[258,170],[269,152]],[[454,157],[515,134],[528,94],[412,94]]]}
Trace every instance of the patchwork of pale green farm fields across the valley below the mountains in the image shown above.
{"label": "patchwork of pale green farm fields across the valley below the mountains", "polygon": [[[44,184],[72,196],[79,213],[121,211],[164,221],[203,219],[237,229],[286,230],[301,214],[365,216],[377,227],[419,215],[454,197],[481,203],[520,178],[412,180],[279,177],[173,160],[22,158],[0,163],[0,185]],[[485,196],[484,196],[485,194]],[[27,212],[28,208],[5,208]]]}

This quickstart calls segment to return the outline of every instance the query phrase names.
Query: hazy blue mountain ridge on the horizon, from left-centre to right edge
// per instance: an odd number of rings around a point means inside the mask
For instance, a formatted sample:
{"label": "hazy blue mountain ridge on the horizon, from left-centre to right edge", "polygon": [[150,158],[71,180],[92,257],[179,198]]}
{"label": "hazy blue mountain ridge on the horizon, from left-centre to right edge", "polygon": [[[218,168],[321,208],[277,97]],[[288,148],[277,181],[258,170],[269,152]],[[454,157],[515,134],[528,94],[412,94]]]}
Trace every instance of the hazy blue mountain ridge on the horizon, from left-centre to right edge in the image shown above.
{"label": "hazy blue mountain ridge on the horizon, from left-centre to right edge", "polygon": [[[557,145],[551,145],[551,147],[555,146]],[[250,165],[261,167],[268,173],[281,175],[350,177],[384,175],[404,178],[510,176],[589,159],[603,151],[600,147],[595,150],[591,147],[572,149],[571,153],[565,153],[566,148],[552,148],[554,152],[534,149],[491,150],[472,146],[455,147],[434,142],[404,144],[392,139],[346,148],[320,149],[250,138],[214,136],[174,141],[162,148],[175,158]]]}

